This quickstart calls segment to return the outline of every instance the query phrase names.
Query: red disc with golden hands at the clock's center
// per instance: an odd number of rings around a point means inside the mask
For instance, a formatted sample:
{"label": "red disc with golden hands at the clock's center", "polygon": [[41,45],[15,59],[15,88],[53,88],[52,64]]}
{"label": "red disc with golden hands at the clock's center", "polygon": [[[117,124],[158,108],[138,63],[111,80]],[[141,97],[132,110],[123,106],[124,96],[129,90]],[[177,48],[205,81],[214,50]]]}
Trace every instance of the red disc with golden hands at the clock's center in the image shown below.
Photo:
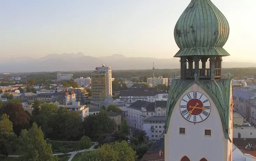
{"label": "red disc with golden hands at the clock's center", "polygon": [[192,115],[203,112],[203,103],[199,99],[190,99],[187,103],[187,110]]}

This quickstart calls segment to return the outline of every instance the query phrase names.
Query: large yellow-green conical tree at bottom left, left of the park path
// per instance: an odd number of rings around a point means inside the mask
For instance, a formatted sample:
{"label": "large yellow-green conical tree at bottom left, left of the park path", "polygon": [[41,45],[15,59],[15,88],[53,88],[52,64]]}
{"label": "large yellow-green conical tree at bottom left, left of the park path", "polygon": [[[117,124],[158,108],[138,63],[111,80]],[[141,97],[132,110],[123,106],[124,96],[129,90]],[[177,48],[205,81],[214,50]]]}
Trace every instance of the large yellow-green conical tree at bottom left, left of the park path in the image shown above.
{"label": "large yellow-green conical tree at bottom left, left of the park path", "polygon": [[40,127],[33,123],[27,131],[22,130],[19,137],[20,147],[25,152],[25,158],[29,161],[58,161],[58,156],[53,156],[52,147],[43,138]]}

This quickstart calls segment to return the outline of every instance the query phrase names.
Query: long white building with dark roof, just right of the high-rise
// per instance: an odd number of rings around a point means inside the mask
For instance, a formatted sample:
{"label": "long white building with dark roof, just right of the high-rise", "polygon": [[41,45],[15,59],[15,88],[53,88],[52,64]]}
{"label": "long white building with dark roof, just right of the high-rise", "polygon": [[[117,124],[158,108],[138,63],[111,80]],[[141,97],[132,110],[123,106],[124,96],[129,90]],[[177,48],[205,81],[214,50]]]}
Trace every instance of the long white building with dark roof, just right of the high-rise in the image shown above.
{"label": "long white building with dark roof, just right of the high-rise", "polygon": [[143,90],[124,90],[121,91],[119,97],[116,98],[117,103],[132,104],[137,100],[154,102],[155,94],[152,91]]}

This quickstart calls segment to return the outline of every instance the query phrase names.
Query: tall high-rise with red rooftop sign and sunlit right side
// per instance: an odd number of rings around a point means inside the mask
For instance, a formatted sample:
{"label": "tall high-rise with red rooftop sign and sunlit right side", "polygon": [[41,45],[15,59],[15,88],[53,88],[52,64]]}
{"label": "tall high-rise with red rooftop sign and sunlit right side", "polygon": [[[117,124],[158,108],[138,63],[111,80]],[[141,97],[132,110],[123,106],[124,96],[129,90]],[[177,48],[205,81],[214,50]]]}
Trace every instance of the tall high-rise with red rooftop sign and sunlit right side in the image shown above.
{"label": "tall high-rise with red rooftop sign and sunlit right side", "polygon": [[112,69],[110,66],[101,64],[92,73],[92,101],[105,102],[112,99]]}

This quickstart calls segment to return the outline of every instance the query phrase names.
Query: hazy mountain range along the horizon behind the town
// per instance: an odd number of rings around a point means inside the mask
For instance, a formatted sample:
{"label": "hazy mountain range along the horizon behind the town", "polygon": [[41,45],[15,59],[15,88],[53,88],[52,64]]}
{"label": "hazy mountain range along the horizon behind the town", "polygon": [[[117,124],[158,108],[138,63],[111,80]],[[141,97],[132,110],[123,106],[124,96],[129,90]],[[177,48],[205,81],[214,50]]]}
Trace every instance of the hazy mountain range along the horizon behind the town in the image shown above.
{"label": "hazy mountain range along the horizon behind the town", "polygon": [[[100,64],[112,66],[113,70],[152,69],[153,62],[156,69],[180,68],[177,58],[149,58],[126,57],[114,54],[105,57],[86,56],[82,52],[76,54],[49,54],[38,59],[18,57],[0,62],[0,72],[42,72],[42,71],[85,71],[94,70]],[[223,68],[256,67],[256,63],[223,62]]]}

